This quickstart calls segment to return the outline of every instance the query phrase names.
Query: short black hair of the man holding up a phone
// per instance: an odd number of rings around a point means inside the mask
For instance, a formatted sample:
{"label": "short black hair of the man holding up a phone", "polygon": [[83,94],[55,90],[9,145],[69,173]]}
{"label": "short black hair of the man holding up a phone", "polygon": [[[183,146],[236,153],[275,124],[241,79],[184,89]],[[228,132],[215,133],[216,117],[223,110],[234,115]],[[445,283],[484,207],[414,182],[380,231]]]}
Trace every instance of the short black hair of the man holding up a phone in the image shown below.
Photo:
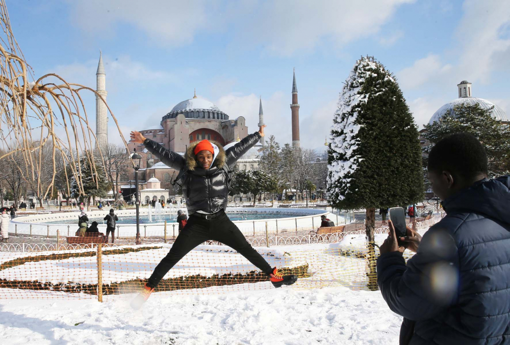
{"label": "short black hair of the man holding up a phone", "polygon": [[428,171],[448,171],[466,179],[487,174],[487,153],[475,136],[456,133],[441,139],[428,154]]}

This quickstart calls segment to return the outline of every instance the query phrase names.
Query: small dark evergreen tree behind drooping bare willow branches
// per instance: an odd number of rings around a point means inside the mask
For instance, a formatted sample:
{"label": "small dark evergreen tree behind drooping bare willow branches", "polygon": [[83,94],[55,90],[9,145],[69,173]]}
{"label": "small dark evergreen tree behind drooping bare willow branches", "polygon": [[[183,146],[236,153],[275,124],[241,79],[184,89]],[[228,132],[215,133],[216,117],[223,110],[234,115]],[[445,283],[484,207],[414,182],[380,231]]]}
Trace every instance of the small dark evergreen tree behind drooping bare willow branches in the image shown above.
{"label": "small dark evergreen tree behind drooping bare willow branches", "polygon": [[91,166],[86,155],[82,156],[80,161],[81,173],[77,167],[78,178],[81,179],[83,185],[83,193],[81,193],[77,180],[74,175],[71,177],[71,195],[73,198],[85,197],[87,201],[87,209],[90,205],[90,198],[104,198],[107,196],[110,184],[105,174],[105,169],[100,160],[94,162],[95,167]]}

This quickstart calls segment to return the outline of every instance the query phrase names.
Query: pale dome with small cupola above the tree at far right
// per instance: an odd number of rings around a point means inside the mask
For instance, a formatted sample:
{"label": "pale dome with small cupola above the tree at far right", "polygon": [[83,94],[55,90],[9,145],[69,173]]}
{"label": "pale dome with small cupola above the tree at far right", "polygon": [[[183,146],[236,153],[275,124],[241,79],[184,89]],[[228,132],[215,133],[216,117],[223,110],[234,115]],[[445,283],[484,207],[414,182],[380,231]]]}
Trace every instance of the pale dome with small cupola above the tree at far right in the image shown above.
{"label": "pale dome with small cupola above the tree at far right", "polygon": [[432,115],[430,121],[428,121],[429,124],[439,121],[445,114],[453,112],[453,107],[455,107],[455,105],[460,104],[474,105],[477,103],[480,105],[480,108],[482,109],[491,109],[492,107],[494,107],[494,109],[492,110],[492,117],[495,118],[496,120],[504,122],[510,121],[510,119],[506,116],[504,110],[498,107],[498,105],[494,104],[491,101],[488,101],[487,99],[472,97],[471,83],[469,83],[468,81],[464,80],[460,84],[458,84],[457,91],[458,98],[444,104],[443,107],[439,108],[434,113],[434,115]]}

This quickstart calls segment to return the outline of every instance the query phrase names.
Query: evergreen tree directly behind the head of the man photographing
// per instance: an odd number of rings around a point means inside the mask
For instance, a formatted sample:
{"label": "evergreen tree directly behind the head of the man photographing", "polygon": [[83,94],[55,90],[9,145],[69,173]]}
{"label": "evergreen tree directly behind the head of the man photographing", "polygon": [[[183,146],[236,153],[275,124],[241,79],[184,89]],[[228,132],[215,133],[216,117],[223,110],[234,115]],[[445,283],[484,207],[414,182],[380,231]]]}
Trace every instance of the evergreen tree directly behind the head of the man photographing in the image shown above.
{"label": "evergreen tree directly behind the head of the man photographing", "polygon": [[474,135],[485,147],[491,177],[508,174],[510,125],[494,119],[491,115],[493,108],[483,109],[478,103],[458,104],[450,113],[443,115],[440,121],[426,124],[423,137],[430,145],[423,148],[425,161],[428,152],[441,139],[450,134],[467,132]]}

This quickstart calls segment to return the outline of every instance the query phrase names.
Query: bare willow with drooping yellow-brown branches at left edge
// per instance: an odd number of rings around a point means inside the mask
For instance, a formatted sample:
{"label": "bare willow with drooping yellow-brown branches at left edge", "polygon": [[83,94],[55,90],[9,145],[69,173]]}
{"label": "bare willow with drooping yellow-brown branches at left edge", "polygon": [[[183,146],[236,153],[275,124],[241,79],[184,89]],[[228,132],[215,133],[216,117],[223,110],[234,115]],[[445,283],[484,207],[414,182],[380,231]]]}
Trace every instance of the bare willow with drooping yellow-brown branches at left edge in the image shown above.
{"label": "bare willow with drooping yellow-brown branches at left edge", "polygon": [[[82,94],[90,92],[105,104],[106,101],[92,88],[68,83],[54,73],[36,78],[14,38],[5,0],[0,0],[0,28],[0,149],[3,150],[0,162],[3,164],[19,154],[20,162],[13,160],[17,172],[32,185],[39,197],[45,198],[54,192],[56,157],[60,155],[65,162],[64,168],[69,169],[66,171],[67,195],[70,195],[69,175],[77,180],[79,193],[84,195],[78,162],[86,160],[95,171],[92,176],[98,176],[94,155],[100,158],[103,169],[106,164],[104,152],[93,150],[96,138],[89,125]],[[121,134],[117,119],[106,106]],[[43,162],[46,153],[42,148],[45,145],[51,147],[49,165]],[[125,141],[124,146],[127,149]],[[134,166],[132,161],[131,164]],[[49,171],[44,172],[46,168]],[[46,173],[49,181],[42,178]],[[97,180],[94,182],[98,183]]]}

